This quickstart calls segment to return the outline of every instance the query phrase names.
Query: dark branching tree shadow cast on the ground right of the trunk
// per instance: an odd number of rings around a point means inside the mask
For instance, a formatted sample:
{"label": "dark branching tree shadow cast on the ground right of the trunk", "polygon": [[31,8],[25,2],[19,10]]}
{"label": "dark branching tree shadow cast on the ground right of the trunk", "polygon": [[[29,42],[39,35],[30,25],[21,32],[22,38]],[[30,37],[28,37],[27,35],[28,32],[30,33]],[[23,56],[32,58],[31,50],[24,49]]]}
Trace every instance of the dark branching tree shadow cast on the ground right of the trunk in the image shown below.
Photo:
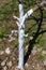
{"label": "dark branching tree shadow cast on the ground right of the trunk", "polygon": [[33,48],[33,45],[34,45],[35,40],[37,39],[37,37],[40,34],[43,34],[44,32],[46,32],[46,30],[40,31],[41,30],[41,26],[42,26],[42,22],[43,22],[43,10],[41,8],[40,8],[40,13],[41,13],[41,18],[37,19],[37,18],[33,17],[33,19],[36,20],[36,23],[39,25],[37,25],[37,30],[36,30],[36,32],[33,36],[33,39],[29,41],[28,52],[25,55],[25,64],[27,62],[27,60],[29,58],[29,55],[31,55],[31,51]]}

